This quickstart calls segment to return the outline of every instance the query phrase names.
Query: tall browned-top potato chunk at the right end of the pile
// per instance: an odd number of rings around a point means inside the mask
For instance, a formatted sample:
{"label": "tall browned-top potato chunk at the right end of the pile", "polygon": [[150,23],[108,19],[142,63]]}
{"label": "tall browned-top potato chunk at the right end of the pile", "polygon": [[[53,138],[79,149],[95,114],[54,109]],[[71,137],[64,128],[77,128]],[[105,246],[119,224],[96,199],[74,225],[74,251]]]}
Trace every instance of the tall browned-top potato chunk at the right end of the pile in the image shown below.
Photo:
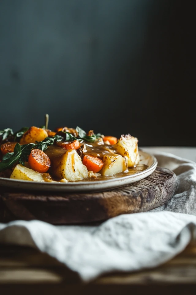
{"label": "tall browned-top potato chunk at the right end of the pile", "polygon": [[136,137],[130,134],[121,135],[113,147],[120,155],[128,158],[128,167],[134,167],[139,163],[138,139]]}

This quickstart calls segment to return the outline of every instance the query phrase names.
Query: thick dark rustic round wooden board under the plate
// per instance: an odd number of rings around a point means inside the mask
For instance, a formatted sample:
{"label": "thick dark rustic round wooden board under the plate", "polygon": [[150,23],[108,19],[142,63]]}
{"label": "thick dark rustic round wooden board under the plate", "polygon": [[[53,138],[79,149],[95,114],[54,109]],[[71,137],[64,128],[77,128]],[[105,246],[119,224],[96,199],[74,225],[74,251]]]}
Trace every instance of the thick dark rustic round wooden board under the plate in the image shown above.
{"label": "thick dark rustic round wooden board under the plate", "polygon": [[52,224],[71,224],[145,212],[168,201],[176,185],[177,178],[172,171],[157,167],[145,179],[103,192],[29,192],[1,187],[0,222],[39,219]]}

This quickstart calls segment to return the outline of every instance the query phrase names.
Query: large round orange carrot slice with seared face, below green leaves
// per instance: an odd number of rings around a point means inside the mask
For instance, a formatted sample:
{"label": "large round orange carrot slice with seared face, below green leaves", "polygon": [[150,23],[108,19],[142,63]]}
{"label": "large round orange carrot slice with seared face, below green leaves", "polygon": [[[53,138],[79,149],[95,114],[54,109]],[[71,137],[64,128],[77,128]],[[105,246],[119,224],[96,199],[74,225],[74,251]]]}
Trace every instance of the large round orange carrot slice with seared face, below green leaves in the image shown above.
{"label": "large round orange carrot slice with seared face, below green leaves", "polygon": [[45,173],[51,166],[50,158],[37,148],[31,151],[28,157],[28,163],[34,171]]}

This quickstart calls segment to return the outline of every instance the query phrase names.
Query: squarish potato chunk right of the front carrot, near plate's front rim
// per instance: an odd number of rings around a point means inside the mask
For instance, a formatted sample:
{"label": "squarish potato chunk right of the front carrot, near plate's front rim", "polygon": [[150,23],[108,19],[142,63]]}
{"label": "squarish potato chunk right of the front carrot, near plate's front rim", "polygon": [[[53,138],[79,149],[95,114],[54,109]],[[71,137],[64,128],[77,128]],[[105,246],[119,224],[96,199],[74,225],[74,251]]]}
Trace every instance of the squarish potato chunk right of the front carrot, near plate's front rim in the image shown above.
{"label": "squarish potato chunk right of the front carrot, near plate's front rim", "polygon": [[121,155],[104,155],[102,158],[104,166],[101,169],[101,175],[114,175],[127,169],[127,157]]}

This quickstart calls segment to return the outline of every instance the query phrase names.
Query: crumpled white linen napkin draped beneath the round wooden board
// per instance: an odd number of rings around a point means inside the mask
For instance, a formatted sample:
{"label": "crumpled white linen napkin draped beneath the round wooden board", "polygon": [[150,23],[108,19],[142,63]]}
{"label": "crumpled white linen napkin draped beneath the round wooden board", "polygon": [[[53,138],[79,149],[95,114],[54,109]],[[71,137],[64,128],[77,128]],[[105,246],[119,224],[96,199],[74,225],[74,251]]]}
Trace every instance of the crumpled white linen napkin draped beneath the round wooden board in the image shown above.
{"label": "crumpled white linen napkin draped beneath the round wooden board", "polygon": [[53,226],[38,220],[0,223],[0,243],[36,247],[83,281],[168,261],[196,237],[196,163],[168,153],[155,156],[159,166],[178,178],[174,196],[163,206],[92,226]]}

